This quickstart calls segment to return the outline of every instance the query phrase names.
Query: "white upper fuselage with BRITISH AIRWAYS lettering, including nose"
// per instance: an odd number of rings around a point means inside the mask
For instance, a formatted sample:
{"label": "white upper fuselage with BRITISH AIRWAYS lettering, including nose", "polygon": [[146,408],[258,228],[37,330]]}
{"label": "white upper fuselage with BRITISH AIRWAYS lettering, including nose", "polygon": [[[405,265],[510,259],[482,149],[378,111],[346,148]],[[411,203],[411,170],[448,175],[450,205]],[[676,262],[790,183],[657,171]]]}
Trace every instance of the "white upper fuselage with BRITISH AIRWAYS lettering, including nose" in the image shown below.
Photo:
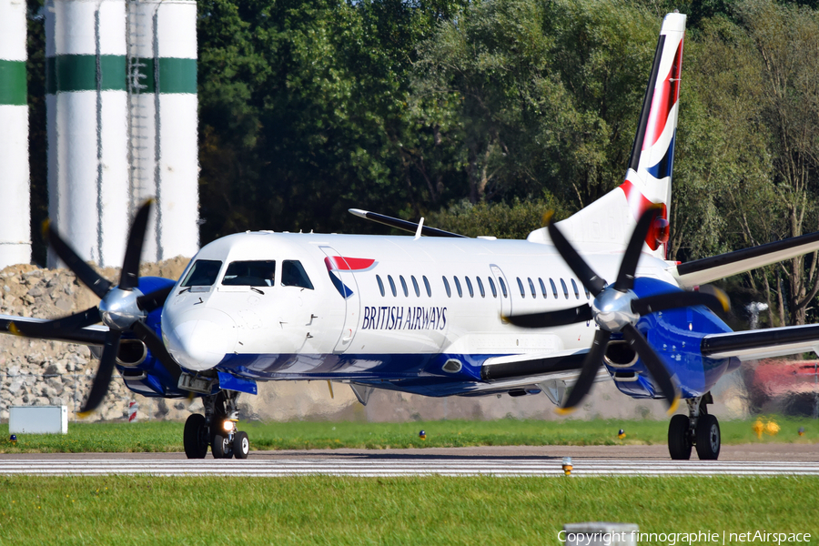
{"label": "white upper fuselage with BRITISH AIRWAYS lettering, including nose", "polygon": [[[584,258],[611,282],[622,251]],[[218,275],[212,285],[186,288],[197,260],[219,262]],[[272,286],[225,284],[231,263],[254,260],[276,262]],[[313,288],[282,285],[286,260],[301,264]],[[643,255],[637,273],[676,284],[666,268],[666,262]],[[226,357],[267,355],[268,366],[272,357],[279,359],[279,371],[308,373],[327,358],[366,357],[348,359],[349,372],[378,365],[379,355],[480,359],[587,349],[593,321],[531,330],[511,326],[501,315],[571,308],[589,299],[551,245],[253,232],[218,239],[197,253],[167,299],[162,330],[171,354],[191,370],[213,368]],[[287,362],[295,355],[311,358]]]}

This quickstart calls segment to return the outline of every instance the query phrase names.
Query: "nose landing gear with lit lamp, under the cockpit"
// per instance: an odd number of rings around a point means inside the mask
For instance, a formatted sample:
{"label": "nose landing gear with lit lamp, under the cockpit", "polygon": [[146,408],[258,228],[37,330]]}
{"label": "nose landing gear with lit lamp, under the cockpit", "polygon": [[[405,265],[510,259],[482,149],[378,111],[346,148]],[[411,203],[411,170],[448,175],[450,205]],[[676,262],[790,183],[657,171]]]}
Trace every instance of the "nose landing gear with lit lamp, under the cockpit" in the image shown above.
{"label": "nose landing gear with lit lamp, under the cockpit", "polygon": [[237,430],[238,395],[235,390],[219,390],[202,398],[205,415],[194,413],[185,421],[183,444],[188,459],[205,459],[207,446],[214,459],[248,459],[248,433]]}

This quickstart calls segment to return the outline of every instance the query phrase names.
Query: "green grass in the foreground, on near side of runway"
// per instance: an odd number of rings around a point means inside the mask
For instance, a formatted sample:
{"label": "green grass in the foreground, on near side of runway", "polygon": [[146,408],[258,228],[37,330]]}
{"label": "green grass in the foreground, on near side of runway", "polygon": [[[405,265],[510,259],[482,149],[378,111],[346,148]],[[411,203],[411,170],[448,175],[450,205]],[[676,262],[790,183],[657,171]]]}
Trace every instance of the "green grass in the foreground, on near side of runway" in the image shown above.
{"label": "green grass in the foreground, on near side of runway", "polygon": [[0,478],[0,544],[556,545],[564,523],[622,521],[718,543],[723,531],[810,532],[815,545],[817,503],[819,478],[806,477],[15,476]]}

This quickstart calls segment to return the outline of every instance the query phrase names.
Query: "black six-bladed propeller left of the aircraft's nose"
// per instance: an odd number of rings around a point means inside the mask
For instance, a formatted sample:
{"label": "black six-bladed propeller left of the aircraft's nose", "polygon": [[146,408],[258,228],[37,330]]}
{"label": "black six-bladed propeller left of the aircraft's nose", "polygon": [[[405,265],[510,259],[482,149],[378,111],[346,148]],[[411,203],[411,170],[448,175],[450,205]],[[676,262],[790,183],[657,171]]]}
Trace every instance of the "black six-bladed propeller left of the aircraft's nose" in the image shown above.
{"label": "black six-bladed propeller left of the aircraft's nose", "polygon": [[161,288],[143,294],[139,288],[139,258],[142,255],[142,244],[145,239],[148,216],[151,212],[153,199],[148,199],[136,212],[136,217],[128,233],[125,258],[119,285],[114,287],[106,278],[101,277],[91,266],[86,264],[76,251],[71,248],[57,233],[51,223],[46,220],[43,224],[43,233],[56,255],[63,260],[77,278],[90,288],[100,298],[99,305],[87,308],[84,311],[49,320],[47,322],[31,323],[19,322],[9,325],[9,331],[32,338],[48,337],[59,333],[67,333],[76,329],[103,322],[108,327],[102,356],[96,369],[94,382],[88,393],[88,399],[80,410],[80,416],[86,416],[96,410],[108,392],[108,385],[114,372],[116,354],[119,350],[119,340],[126,331],[131,331],[136,339],[143,341],[151,354],[165,367],[175,379],[179,379],[182,369],[176,360],[167,352],[162,339],[154,329],[147,326],[145,319],[148,313],[165,303],[172,288]]}

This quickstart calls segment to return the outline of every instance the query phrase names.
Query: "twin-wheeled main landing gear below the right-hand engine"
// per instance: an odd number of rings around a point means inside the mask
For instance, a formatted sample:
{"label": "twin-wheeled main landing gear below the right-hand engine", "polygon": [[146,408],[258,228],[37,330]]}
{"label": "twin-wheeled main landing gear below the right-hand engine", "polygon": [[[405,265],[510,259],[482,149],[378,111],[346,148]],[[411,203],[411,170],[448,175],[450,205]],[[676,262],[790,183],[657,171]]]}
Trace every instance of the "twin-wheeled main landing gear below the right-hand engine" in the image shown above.
{"label": "twin-wheeled main landing gear below the right-hand engine", "polygon": [[686,399],[688,417],[675,415],[668,425],[668,452],[674,460],[691,459],[696,446],[700,460],[717,460],[720,456],[720,423],[708,413],[706,404],[713,404],[711,393]]}

